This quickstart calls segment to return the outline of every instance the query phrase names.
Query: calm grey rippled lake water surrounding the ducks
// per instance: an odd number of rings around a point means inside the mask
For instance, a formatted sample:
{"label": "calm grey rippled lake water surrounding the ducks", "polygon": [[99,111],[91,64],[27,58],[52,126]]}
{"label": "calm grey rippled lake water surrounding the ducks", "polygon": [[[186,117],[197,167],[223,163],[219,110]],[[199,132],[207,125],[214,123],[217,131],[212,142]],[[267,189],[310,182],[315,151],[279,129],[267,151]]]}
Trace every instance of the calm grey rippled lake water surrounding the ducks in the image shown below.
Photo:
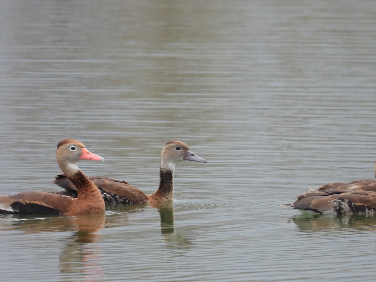
{"label": "calm grey rippled lake water surrounding the ducks", "polygon": [[59,191],[58,141],[87,175],[173,203],[103,216],[0,216],[3,281],[367,281],[376,217],[284,208],[373,179],[374,1],[0,0],[0,188]]}

